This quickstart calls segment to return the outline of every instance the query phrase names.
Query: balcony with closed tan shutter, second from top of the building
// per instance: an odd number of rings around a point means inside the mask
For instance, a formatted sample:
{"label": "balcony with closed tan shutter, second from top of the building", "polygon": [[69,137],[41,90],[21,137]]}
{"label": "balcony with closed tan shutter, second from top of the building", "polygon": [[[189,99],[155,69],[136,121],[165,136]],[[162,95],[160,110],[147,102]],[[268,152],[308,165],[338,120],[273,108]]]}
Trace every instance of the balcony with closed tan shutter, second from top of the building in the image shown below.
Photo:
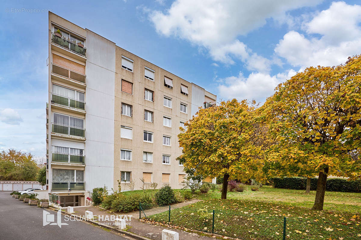
{"label": "balcony with closed tan shutter, second from top of the building", "polygon": [[[71,70],[70,68],[63,67],[61,65],[52,63],[52,74],[57,78],[57,80],[63,81],[70,81],[71,83],[74,83],[75,85],[80,86],[86,86],[86,75],[74,70]],[[65,78],[65,79],[64,79]]]}

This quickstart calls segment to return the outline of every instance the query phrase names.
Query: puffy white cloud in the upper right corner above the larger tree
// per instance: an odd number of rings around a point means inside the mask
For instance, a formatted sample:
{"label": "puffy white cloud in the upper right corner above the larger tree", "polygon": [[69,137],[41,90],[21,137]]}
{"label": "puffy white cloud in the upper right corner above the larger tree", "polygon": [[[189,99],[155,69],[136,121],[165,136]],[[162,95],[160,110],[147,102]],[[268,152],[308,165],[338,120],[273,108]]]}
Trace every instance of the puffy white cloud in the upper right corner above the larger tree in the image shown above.
{"label": "puffy white cloud in the upper right corner above the larger tree", "polygon": [[321,37],[306,37],[290,31],[275,47],[275,53],[293,66],[339,65],[348,56],[360,54],[361,6],[334,2],[330,8],[304,22],[305,31]]}

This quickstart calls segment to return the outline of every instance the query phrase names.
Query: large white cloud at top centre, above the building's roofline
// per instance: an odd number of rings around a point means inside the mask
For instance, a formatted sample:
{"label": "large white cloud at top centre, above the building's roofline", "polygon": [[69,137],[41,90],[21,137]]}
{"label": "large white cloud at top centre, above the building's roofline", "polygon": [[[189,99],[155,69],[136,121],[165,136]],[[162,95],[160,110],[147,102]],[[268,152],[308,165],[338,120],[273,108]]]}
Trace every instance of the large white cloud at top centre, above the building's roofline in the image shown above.
{"label": "large white cloud at top centre, above the building's roofline", "polygon": [[287,22],[287,11],[319,2],[321,0],[210,0],[205,4],[204,1],[177,0],[165,13],[153,11],[149,17],[158,33],[178,36],[205,47],[215,61],[234,64],[233,59],[238,58],[249,69],[258,70],[255,62],[262,63],[260,70],[266,71],[269,69],[266,59],[252,54],[236,38],[264,26],[268,18],[281,21],[282,16],[282,22]]}

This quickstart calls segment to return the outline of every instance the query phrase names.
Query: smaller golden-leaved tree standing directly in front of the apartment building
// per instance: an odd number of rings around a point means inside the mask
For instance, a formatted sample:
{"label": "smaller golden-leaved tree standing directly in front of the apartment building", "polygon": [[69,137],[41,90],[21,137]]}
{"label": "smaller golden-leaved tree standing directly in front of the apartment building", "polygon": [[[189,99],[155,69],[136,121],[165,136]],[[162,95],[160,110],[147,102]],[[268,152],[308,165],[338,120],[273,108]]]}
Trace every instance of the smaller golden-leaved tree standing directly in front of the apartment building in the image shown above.
{"label": "smaller golden-leaved tree standing directly in front of the apartment building", "polygon": [[222,101],[185,123],[178,135],[183,148],[180,159],[195,176],[223,177],[222,199],[227,198],[229,179],[259,179],[267,145],[267,126],[255,102]]}

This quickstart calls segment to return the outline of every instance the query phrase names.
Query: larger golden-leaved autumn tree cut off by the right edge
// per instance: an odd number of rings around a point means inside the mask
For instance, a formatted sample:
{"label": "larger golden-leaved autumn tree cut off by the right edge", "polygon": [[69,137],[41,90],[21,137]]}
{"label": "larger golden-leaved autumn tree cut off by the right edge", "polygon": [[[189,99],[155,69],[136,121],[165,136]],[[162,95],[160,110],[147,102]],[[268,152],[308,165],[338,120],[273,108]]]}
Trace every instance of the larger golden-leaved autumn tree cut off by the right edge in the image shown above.
{"label": "larger golden-leaved autumn tree cut off by the right edge", "polygon": [[[267,99],[279,169],[318,174],[314,210],[323,209],[327,175],[360,177],[361,55],[337,67],[309,67]],[[316,175],[316,174],[315,174]]]}

